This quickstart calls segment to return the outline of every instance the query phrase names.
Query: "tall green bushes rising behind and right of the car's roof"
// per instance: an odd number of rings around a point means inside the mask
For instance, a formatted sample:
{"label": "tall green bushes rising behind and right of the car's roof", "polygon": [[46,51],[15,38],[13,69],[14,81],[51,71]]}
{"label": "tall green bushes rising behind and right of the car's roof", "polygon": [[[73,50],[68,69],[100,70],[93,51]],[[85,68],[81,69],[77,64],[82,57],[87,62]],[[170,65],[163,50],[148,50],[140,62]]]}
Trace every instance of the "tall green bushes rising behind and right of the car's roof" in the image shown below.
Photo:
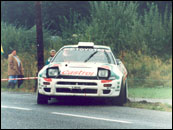
{"label": "tall green bushes rising behind and right of the car's roof", "polygon": [[[70,19],[62,18],[64,44],[89,41],[111,46],[116,55],[122,51],[141,51],[151,57],[159,56],[163,61],[172,57],[172,8],[170,12],[166,8],[161,15],[157,5],[148,4],[148,10],[141,15],[137,2],[89,3],[90,17],[81,18],[71,13]],[[76,38],[72,37],[74,34]]]}

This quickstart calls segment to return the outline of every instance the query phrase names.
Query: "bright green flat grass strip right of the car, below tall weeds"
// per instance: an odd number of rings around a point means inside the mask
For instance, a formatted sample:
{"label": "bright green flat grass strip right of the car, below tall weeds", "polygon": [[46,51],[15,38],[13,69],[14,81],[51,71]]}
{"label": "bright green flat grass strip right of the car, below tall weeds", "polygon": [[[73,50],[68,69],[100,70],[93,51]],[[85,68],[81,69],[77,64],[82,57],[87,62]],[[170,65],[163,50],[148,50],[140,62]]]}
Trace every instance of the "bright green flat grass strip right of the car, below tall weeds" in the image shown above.
{"label": "bright green flat grass strip right of the car, below tall weeds", "polygon": [[172,88],[128,88],[132,98],[172,99]]}

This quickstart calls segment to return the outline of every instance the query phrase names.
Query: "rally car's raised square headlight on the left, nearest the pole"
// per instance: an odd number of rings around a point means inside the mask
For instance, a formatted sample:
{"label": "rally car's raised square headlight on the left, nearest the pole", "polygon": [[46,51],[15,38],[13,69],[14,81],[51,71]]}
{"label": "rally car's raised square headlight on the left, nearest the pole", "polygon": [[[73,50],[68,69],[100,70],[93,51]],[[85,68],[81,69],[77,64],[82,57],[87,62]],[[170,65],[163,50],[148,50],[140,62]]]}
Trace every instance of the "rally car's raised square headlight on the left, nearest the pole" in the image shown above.
{"label": "rally car's raised square headlight on the left, nearest the pole", "polygon": [[59,69],[57,67],[48,68],[46,75],[48,78],[55,78],[59,76]]}

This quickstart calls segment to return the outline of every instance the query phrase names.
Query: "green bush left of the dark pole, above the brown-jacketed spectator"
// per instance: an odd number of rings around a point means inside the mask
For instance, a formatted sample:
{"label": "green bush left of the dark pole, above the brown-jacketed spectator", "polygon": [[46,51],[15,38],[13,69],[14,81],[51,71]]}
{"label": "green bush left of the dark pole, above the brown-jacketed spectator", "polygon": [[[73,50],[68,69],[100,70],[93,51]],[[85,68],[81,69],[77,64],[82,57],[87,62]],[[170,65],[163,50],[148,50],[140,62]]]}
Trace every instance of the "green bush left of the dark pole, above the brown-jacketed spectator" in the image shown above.
{"label": "green bush left of the dark pole, above the brown-jacketed spectator", "polygon": [[4,56],[7,58],[11,53],[11,49],[16,49],[17,52],[33,53],[33,45],[36,45],[36,35],[33,28],[26,30],[23,27],[1,22],[1,44],[4,49]]}

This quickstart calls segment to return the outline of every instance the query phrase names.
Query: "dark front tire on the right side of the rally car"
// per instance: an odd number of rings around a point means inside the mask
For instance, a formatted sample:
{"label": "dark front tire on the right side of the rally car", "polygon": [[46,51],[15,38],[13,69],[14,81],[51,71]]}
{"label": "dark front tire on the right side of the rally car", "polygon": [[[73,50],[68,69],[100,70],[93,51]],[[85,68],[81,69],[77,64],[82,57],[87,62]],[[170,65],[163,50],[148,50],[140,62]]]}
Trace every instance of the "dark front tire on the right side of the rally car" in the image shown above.
{"label": "dark front tire on the right side of the rally car", "polygon": [[127,80],[125,81],[125,85],[123,85],[123,81],[121,83],[120,95],[118,97],[114,97],[111,99],[112,105],[123,106],[127,102]]}

